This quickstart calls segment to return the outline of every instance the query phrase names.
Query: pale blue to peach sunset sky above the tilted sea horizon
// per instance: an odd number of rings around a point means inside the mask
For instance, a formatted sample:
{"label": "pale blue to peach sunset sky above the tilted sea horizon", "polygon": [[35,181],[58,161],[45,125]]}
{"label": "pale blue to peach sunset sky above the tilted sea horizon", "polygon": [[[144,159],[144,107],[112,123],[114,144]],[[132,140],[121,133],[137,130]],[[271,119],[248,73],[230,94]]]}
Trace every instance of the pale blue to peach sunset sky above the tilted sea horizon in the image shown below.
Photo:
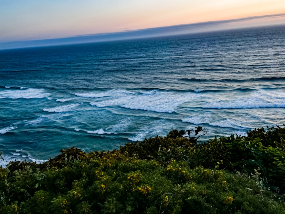
{"label": "pale blue to peach sunset sky above the tilted sea horizon", "polygon": [[79,42],[82,35],[146,33],[141,29],[158,28],[162,35],[173,25],[195,33],[274,24],[285,24],[284,0],[0,0],[0,49],[24,41],[37,46],[35,41],[76,36]]}

